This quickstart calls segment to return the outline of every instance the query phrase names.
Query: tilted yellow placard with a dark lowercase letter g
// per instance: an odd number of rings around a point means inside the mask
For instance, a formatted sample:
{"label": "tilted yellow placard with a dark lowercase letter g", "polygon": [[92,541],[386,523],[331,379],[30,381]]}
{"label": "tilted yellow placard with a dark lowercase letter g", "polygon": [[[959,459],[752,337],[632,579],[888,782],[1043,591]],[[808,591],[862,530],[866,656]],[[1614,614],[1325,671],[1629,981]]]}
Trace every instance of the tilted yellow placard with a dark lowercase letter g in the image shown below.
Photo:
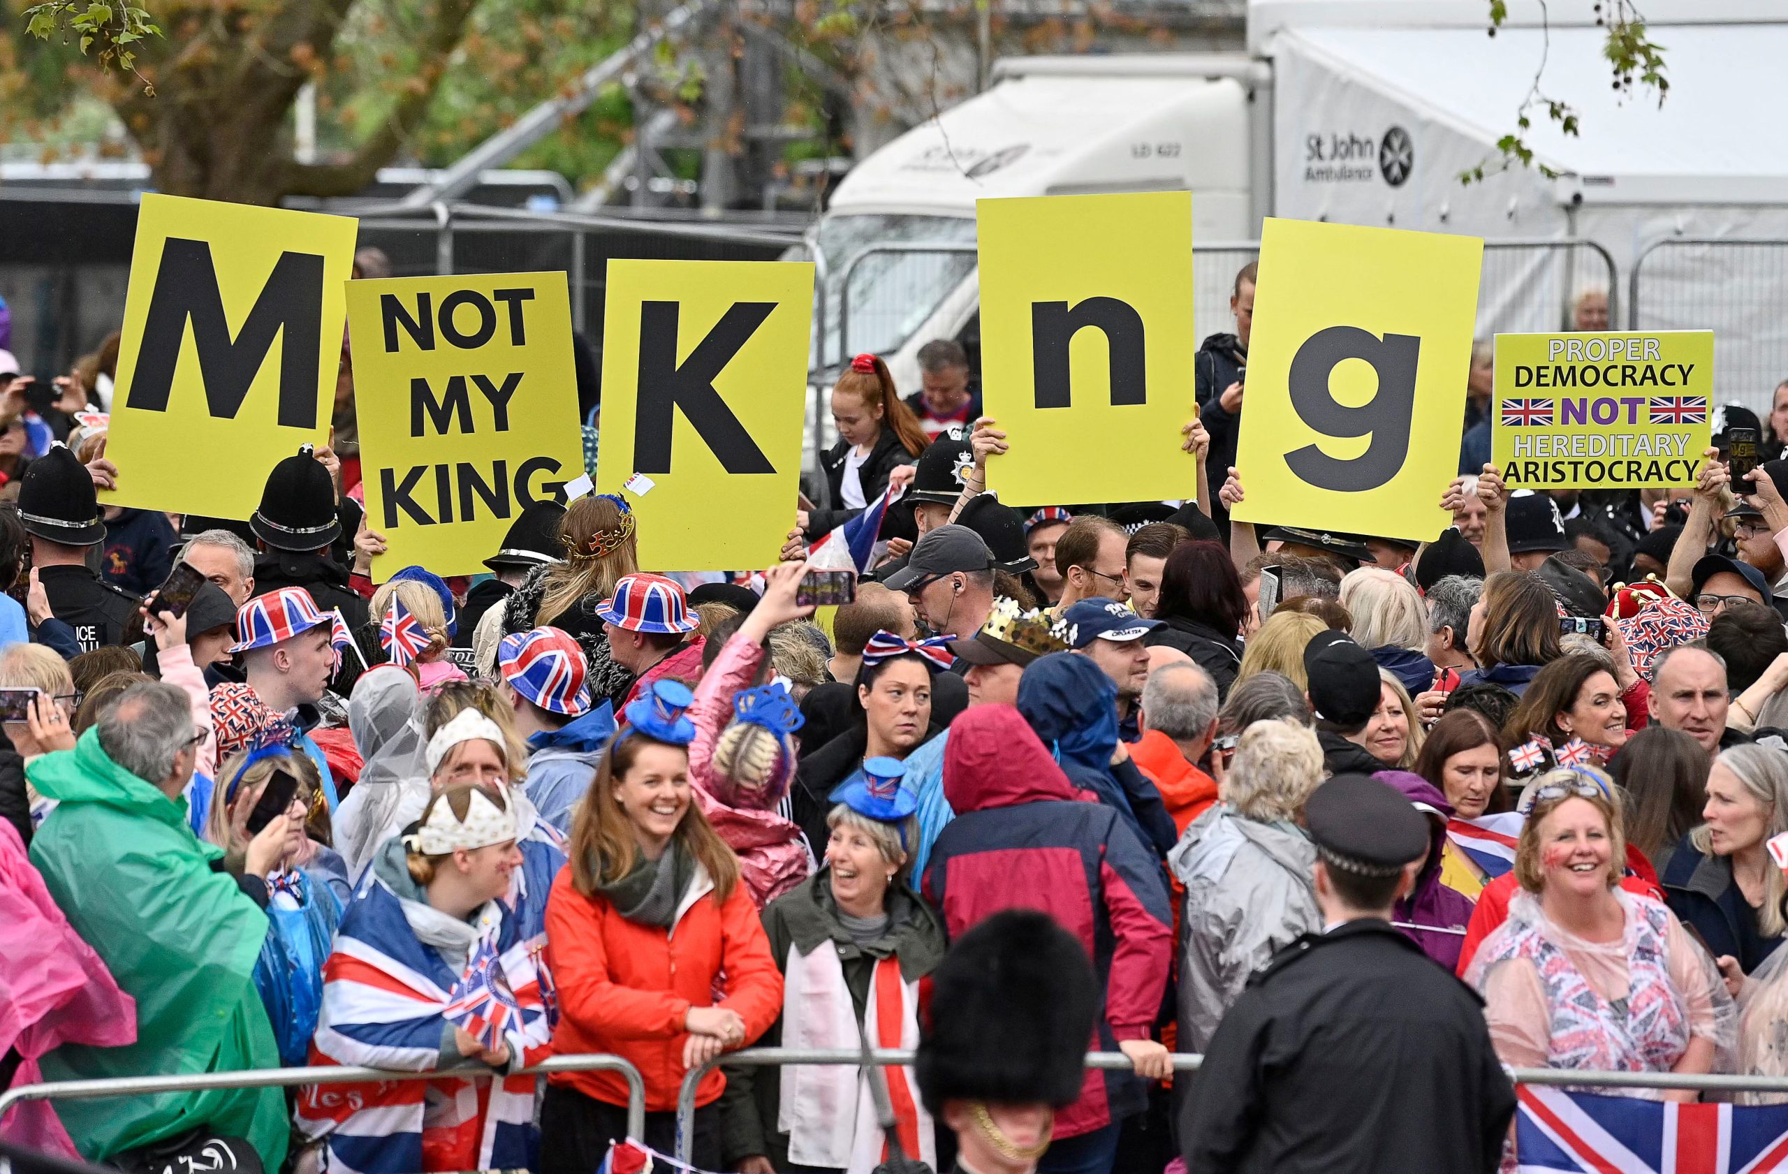
{"label": "tilted yellow placard with a dark lowercase letter g", "polygon": [[1446,527],[1482,261],[1475,236],[1266,222],[1234,518],[1420,541]]}

